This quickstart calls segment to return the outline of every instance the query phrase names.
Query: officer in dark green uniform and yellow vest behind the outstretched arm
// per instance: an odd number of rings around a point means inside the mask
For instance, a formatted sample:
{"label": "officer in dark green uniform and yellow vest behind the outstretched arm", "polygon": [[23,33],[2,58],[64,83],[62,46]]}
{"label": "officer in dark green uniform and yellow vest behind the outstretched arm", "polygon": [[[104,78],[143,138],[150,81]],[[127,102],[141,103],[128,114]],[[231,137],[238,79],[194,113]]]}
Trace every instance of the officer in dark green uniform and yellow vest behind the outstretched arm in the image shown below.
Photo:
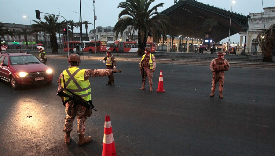
{"label": "officer in dark green uniform and yellow vest behind the outstretched arm", "polygon": [[[106,57],[103,59],[103,63],[105,63],[106,61],[106,68],[107,69],[116,69],[116,59],[115,57],[112,55],[111,50],[107,50],[106,52]],[[115,81],[114,81],[114,74],[111,73],[110,75],[108,75],[109,80],[107,84],[111,84],[114,85]]]}

